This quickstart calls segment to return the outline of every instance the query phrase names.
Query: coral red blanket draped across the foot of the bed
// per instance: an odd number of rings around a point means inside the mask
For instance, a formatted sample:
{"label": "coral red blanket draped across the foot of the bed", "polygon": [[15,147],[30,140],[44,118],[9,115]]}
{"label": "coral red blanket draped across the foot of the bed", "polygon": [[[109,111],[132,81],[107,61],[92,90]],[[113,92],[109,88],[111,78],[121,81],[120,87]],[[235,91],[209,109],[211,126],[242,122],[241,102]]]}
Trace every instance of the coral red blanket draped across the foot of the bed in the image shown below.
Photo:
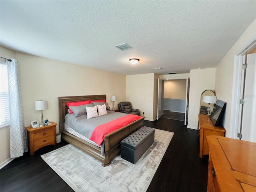
{"label": "coral red blanket draped across the foot of the bed", "polygon": [[118,130],[119,128],[126,126],[127,124],[134,122],[135,120],[138,120],[140,118],[141,117],[138,115],[128,114],[126,116],[117,118],[105,124],[99,125],[93,130],[90,136],[90,140],[96,142],[96,144],[100,146],[106,134]]}

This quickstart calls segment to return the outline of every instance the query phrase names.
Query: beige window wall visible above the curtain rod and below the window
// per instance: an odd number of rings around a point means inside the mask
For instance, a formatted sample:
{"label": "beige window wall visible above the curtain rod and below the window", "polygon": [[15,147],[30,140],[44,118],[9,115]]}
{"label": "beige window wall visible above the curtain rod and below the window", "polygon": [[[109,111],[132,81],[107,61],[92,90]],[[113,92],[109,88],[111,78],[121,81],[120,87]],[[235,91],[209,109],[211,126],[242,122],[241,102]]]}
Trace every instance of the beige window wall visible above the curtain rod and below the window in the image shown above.
{"label": "beige window wall visible above the curtain rod and below the window", "polygon": [[[1,56],[5,58],[16,58],[16,53],[4,47],[0,47]],[[1,58],[1,60],[3,60]],[[0,130],[0,163],[10,158],[10,128]]]}

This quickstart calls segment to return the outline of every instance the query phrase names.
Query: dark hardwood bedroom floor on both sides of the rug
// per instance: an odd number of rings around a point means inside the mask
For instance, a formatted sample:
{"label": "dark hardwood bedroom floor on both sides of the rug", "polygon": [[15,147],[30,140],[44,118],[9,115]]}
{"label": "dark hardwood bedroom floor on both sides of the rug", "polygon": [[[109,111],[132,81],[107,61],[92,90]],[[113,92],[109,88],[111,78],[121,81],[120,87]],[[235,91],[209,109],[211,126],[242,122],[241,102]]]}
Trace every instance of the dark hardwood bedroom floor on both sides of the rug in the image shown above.
{"label": "dark hardwood bedroom floor on both sides of the rug", "polygon": [[[199,157],[198,133],[184,122],[166,118],[145,121],[145,126],[174,132],[174,136],[147,192],[206,192],[208,156]],[[68,144],[46,146],[30,156],[28,152],[0,170],[1,192],[73,191],[40,155]]]}

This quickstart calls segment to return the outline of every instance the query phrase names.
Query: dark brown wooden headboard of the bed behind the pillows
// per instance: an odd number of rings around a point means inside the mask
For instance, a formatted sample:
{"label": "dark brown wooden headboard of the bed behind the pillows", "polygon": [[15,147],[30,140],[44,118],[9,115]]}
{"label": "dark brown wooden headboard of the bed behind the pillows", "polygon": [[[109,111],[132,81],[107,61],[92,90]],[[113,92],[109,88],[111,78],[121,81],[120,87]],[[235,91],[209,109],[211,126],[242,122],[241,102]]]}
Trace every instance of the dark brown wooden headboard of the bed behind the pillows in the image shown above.
{"label": "dark brown wooden headboard of the bed behind the pillows", "polygon": [[67,96],[58,97],[59,100],[59,126],[60,132],[64,129],[65,115],[68,114],[66,102],[85,101],[85,100],[105,100],[106,95],[86,95],[86,96]]}

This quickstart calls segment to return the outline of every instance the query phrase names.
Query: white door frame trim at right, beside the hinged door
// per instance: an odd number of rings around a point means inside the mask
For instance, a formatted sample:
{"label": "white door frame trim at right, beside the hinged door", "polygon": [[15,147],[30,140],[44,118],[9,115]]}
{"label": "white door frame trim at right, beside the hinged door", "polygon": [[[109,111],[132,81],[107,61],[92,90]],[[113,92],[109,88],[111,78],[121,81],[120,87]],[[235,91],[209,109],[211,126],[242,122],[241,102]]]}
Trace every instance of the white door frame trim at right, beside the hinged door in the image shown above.
{"label": "white door frame trim at right, beside the hinged door", "polygon": [[249,50],[256,46],[256,35],[254,35],[244,46],[238,50],[234,58],[234,73],[233,73],[233,86],[232,86],[232,102],[231,102],[231,115],[230,115],[230,138],[237,138],[239,124],[239,105],[240,105],[240,92],[241,92],[241,79],[242,79],[242,64],[243,56]]}

